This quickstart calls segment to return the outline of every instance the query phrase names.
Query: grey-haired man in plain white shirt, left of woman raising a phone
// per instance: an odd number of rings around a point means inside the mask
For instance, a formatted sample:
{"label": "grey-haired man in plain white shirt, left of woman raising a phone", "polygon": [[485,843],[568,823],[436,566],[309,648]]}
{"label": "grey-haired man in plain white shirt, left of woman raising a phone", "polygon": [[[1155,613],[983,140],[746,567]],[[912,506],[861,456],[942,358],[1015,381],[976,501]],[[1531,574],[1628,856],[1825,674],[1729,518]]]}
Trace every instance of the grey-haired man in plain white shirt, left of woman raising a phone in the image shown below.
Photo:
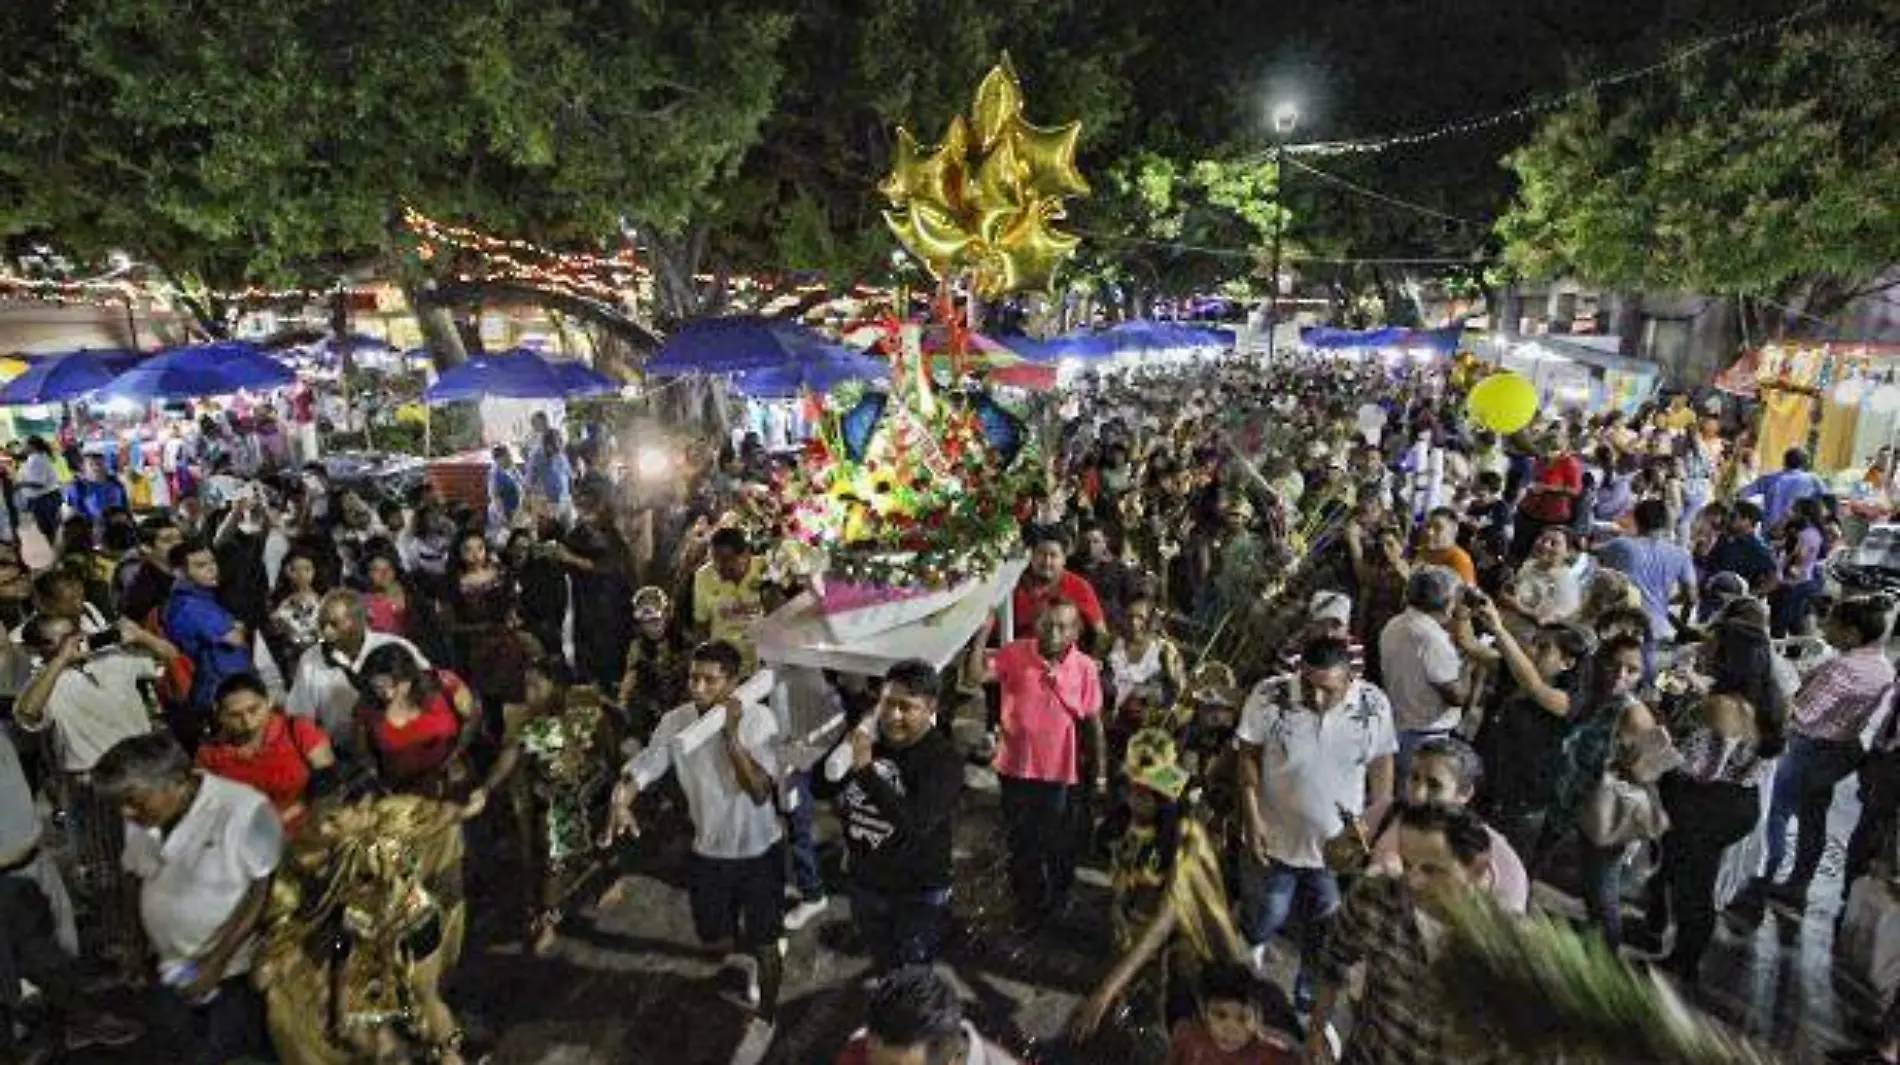
{"label": "grey-haired man in plain white shirt, left of woman raising a phone", "polygon": [[1398,723],[1398,780],[1410,778],[1419,744],[1457,727],[1471,697],[1465,661],[1452,642],[1459,585],[1457,573],[1442,566],[1416,570],[1406,581],[1404,613],[1379,630],[1379,680]]}

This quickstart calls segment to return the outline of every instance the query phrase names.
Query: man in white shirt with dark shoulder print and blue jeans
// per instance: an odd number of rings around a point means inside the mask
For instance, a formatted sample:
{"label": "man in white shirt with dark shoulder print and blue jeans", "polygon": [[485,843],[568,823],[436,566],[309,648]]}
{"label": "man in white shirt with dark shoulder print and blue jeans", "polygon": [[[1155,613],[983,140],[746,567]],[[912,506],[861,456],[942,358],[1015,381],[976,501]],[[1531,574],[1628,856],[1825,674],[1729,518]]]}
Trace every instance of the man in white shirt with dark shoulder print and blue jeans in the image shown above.
{"label": "man in white shirt with dark shoulder print and blue jeans", "polygon": [[[1241,860],[1241,932],[1265,944],[1307,896],[1311,917],[1302,955],[1311,957],[1324,921],[1340,907],[1340,885],[1326,868],[1326,845],[1347,831],[1347,816],[1393,797],[1398,738],[1385,693],[1353,676],[1345,640],[1305,645],[1300,672],[1260,682],[1246,697],[1241,740],[1241,805],[1246,854]],[[1294,999],[1311,1002],[1302,964]]]}

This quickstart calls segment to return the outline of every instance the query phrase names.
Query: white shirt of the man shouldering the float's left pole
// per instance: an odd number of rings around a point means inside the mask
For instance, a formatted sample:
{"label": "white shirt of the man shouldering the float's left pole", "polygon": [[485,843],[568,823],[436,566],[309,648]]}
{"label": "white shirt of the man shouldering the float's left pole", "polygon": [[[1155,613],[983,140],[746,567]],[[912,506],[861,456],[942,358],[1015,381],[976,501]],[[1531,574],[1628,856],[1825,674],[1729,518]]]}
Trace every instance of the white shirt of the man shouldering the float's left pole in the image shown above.
{"label": "white shirt of the man shouldering the float's left pole", "polygon": [[[773,752],[779,721],[771,710],[743,702],[739,746],[752,761],[777,780],[779,765]],[[714,706],[707,714],[688,702],[659,719],[654,738],[627,761],[627,776],[640,792],[652,788],[671,769],[686,809],[694,818],[694,854],[701,858],[758,858],[779,841],[779,813],[770,801],[754,803],[739,786],[739,775],[726,754],[720,729],[726,710]]]}

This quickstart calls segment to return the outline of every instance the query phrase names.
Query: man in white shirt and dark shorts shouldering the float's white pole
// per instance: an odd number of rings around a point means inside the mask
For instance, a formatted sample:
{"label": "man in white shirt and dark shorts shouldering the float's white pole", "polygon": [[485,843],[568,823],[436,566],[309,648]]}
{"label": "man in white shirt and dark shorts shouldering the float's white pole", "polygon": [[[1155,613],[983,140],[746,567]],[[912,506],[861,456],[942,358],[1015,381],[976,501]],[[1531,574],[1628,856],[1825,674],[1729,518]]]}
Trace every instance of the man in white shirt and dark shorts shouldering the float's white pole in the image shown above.
{"label": "man in white shirt and dark shorts shouldering the float's white pole", "polygon": [[750,955],[747,1000],[758,1014],[747,1025],[735,1063],[764,1057],[779,1004],[785,961],[779,932],[785,911],[785,858],[777,778],[779,721],[735,695],[745,680],[739,649],[724,640],[694,649],[686,674],[692,702],[669,710],[646,748],[635,754],[614,788],[612,833],[635,831],[633,799],[669,771],[686,792],[694,822],[688,900],[694,932],[709,947]]}

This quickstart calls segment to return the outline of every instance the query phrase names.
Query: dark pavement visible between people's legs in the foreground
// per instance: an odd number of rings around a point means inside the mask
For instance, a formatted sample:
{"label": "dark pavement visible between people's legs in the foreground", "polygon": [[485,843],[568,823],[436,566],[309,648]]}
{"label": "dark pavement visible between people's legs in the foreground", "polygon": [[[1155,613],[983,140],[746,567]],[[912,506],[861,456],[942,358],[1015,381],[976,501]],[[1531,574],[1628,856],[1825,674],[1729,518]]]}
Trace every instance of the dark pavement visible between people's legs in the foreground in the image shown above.
{"label": "dark pavement visible between people's legs in the foreground", "polygon": [[[980,784],[982,775],[973,773]],[[1716,1016],[1767,1038],[1790,1065],[1820,1061],[1843,1040],[1852,1018],[1870,1016],[1832,968],[1835,869],[1852,826],[1852,784],[1841,786],[1834,837],[1801,923],[1769,915],[1752,936],[1718,932],[1710,974],[1697,1000]],[[718,978],[718,959],[697,949],[680,873],[686,837],[648,820],[629,868],[635,890],[608,911],[568,921],[551,957],[524,955],[515,932],[498,928],[500,906],[477,911],[469,951],[450,985],[450,1000],[473,1042],[492,1048],[494,1065],[722,1065],[737,1044],[743,1012],[726,999],[735,987]],[[830,835],[821,818],[821,830]],[[965,790],[958,828],[956,932],[944,968],[963,987],[971,1016],[999,1042],[1037,1065],[1148,1065],[1140,1040],[1106,1035],[1070,1046],[1064,1027],[1110,957],[1102,887],[1083,885],[1072,917],[1032,942],[1001,930],[1003,869],[996,795]],[[826,864],[834,850],[826,849]],[[507,869],[471,869],[475,890],[509,885]],[[1094,877],[1091,877],[1094,879]],[[600,887],[608,883],[602,877]],[[1537,888],[1539,904],[1581,913],[1573,900]],[[1778,945],[1786,944],[1786,947]],[[1282,970],[1286,959],[1282,959]],[[828,1063],[863,1021],[864,959],[851,944],[849,907],[830,911],[788,936],[783,1019],[773,1065]],[[1290,976],[1290,972],[1288,972]],[[1290,981],[1288,981],[1290,983]],[[142,1044],[74,1057],[78,1065],[165,1061],[165,1048]]]}

